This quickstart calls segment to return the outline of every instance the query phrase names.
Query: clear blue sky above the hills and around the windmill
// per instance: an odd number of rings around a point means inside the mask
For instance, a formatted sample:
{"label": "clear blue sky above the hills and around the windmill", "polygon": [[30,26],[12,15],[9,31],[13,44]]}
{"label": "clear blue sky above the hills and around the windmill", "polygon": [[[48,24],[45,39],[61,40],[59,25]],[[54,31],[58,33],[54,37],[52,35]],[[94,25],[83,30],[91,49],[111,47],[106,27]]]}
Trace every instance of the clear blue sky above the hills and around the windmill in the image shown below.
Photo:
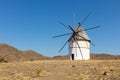
{"label": "clear blue sky above the hills and around the windmill", "polygon": [[101,25],[87,31],[96,44],[91,46],[91,52],[119,55],[119,4],[120,0],[0,0],[0,43],[45,56],[66,55],[68,46],[61,53],[58,50],[69,36],[51,38],[70,32],[58,21],[75,28],[91,12],[83,28]]}

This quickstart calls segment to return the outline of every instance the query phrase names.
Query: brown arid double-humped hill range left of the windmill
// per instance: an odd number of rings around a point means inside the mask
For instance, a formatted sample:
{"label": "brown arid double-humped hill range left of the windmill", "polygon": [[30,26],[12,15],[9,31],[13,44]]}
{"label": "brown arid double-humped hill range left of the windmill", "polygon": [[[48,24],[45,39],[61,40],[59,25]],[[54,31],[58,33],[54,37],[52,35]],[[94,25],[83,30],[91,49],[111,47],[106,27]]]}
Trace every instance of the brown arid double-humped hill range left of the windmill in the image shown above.
{"label": "brown arid double-humped hill range left of the windmill", "polygon": [[0,44],[0,61],[30,61],[48,59],[32,50],[21,51],[8,44]]}

